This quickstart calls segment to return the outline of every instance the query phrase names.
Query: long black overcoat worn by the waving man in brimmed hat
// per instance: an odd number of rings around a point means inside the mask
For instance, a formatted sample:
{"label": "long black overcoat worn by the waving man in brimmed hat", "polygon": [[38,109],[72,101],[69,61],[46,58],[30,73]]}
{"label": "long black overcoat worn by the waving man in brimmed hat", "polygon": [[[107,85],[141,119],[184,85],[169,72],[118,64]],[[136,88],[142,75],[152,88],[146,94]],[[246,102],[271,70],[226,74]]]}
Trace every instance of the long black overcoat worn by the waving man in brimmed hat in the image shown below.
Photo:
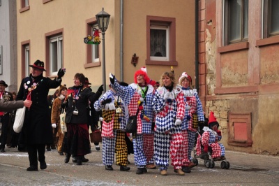
{"label": "long black overcoat worn by the waving man in brimmed hat", "polygon": [[24,125],[20,137],[22,144],[51,144],[52,143],[52,124],[47,103],[47,94],[50,89],[61,85],[61,79],[36,77],[32,83],[31,76],[24,78],[17,94],[17,100],[27,99],[29,88],[34,83],[38,83],[31,91],[31,108],[25,111]]}

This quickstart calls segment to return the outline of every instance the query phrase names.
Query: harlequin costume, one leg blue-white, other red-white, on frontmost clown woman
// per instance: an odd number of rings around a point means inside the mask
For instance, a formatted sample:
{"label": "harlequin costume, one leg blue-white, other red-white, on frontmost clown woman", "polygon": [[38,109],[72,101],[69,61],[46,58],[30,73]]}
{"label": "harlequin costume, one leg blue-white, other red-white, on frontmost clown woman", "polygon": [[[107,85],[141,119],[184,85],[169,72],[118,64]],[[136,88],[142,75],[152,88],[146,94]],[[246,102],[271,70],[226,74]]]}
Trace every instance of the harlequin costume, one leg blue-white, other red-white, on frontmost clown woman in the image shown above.
{"label": "harlequin costume, one leg blue-white, other red-white, on frontmost clown woman", "polygon": [[[169,92],[169,99],[164,94]],[[153,99],[153,110],[156,111],[156,126],[154,138],[154,157],[156,165],[163,170],[169,166],[169,152],[174,171],[183,165],[183,136],[181,124],[175,124],[177,119],[183,120],[185,114],[184,96],[181,87],[176,85],[171,91],[158,87]]]}

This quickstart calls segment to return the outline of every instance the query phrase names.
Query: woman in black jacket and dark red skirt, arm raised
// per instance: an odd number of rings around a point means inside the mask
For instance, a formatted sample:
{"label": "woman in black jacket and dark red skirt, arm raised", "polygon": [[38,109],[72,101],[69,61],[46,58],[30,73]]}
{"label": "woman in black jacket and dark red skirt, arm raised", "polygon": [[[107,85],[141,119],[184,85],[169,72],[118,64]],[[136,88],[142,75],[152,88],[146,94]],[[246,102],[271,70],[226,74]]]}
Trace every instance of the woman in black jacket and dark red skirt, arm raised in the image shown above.
{"label": "woman in black jacket and dark red skirt, arm raised", "polygon": [[89,87],[84,87],[85,77],[82,73],[76,73],[74,86],[68,88],[66,106],[67,134],[64,138],[63,152],[66,152],[65,163],[70,156],[77,157],[77,165],[82,164],[82,157],[90,153],[89,131],[87,127],[87,106],[89,100],[93,103],[103,92],[103,85],[98,88],[96,94]]}

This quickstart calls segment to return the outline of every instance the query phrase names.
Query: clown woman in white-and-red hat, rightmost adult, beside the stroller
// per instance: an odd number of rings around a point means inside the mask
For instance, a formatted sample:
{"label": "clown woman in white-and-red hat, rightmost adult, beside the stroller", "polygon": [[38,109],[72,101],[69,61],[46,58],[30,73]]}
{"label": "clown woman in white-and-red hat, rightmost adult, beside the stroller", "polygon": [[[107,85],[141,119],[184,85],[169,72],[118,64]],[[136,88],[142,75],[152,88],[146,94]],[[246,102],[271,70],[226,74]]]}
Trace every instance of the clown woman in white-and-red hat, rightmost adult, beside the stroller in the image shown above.
{"label": "clown woman in white-and-red hat, rightmost adult, beside the stroller", "polygon": [[192,78],[183,72],[179,78],[179,85],[182,86],[184,99],[186,101],[185,117],[182,120],[182,135],[185,148],[183,152],[183,172],[190,173],[190,168],[195,164],[190,162],[191,152],[195,145],[195,135],[197,133],[197,122],[204,122],[204,112],[202,102],[199,100],[197,90],[192,87]]}

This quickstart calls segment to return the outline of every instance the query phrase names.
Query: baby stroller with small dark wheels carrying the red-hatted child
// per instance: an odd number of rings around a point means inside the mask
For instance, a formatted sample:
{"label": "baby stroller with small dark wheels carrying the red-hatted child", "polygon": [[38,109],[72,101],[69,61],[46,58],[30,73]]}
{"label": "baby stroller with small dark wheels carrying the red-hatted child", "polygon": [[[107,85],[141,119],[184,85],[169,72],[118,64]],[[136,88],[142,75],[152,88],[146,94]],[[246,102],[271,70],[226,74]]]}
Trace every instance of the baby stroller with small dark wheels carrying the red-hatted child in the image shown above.
{"label": "baby stroller with small dark wheels carrying the red-hatted child", "polygon": [[[206,124],[204,124],[206,126]],[[196,140],[195,140],[195,148],[193,148],[194,158],[193,163],[197,166],[198,160],[197,157],[204,159],[204,166],[208,169],[213,169],[215,167],[216,161],[222,161],[220,164],[221,169],[229,169],[229,162],[227,159],[213,159],[212,155],[212,148],[209,146],[208,152],[204,152],[204,147],[202,145],[202,134],[204,131],[202,130],[204,126],[199,126],[197,130]]]}

